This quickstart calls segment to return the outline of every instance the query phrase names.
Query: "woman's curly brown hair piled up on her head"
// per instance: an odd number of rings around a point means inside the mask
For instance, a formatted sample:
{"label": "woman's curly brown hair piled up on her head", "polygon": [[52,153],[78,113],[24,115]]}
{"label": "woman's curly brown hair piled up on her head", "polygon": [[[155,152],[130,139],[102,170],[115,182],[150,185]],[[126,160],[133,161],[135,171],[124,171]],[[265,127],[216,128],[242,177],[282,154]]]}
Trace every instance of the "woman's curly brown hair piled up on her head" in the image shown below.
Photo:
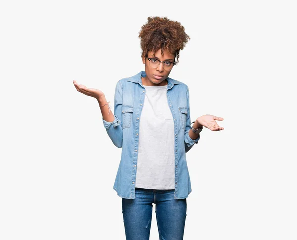
{"label": "woman's curly brown hair piled up on her head", "polygon": [[148,21],[141,27],[138,37],[142,49],[141,57],[145,56],[148,51],[153,51],[153,56],[155,56],[156,51],[161,48],[162,55],[166,49],[177,57],[176,63],[178,63],[180,50],[184,49],[190,40],[181,23],[167,17],[148,17]]}

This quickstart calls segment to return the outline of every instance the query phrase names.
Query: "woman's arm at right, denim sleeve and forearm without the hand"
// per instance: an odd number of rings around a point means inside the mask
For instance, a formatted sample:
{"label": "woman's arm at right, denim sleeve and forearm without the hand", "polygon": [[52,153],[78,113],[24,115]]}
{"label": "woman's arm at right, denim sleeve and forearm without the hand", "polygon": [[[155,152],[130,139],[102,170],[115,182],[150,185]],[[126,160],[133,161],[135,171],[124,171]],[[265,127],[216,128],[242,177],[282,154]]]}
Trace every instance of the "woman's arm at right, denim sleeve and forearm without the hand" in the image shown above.
{"label": "woman's arm at right, denim sleeve and forearm without the hand", "polygon": [[[190,120],[190,102],[189,102],[189,88],[187,87],[187,120],[186,120],[186,127],[185,127],[185,134],[184,134],[184,141],[185,141],[185,150],[186,153],[193,147],[194,143],[198,143],[200,139],[200,134],[195,134],[191,130],[191,120]],[[196,120],[194,123],[194,128],[198,128],[201,125]]]}

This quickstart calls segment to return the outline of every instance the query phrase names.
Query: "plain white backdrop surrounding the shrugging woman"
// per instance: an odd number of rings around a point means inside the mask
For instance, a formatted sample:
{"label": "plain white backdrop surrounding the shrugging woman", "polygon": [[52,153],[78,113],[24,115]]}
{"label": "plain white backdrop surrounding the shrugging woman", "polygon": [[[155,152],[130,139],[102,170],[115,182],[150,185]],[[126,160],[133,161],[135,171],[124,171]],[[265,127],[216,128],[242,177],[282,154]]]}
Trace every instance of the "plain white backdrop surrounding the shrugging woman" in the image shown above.
{"label": "plain white backdrop surrounding the shrugging woman", "polygon": [[[124,240],[121,149],[98,102],[141,70],[148,16],[191,37],[170,77],[191,121],[223,117],[187,153],[185,240],[296,240],[297,7],[289,0],[1,1],[0,239]],[[153,205],[151,240],[158,239]]]}

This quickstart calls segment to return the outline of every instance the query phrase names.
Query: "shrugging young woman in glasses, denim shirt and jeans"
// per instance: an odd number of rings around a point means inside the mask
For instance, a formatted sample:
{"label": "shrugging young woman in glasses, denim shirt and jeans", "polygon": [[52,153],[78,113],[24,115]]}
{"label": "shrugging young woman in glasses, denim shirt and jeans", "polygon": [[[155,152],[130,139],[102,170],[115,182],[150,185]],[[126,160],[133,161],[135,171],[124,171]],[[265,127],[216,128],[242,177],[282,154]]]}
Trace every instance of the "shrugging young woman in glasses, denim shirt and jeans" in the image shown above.
{"label": "shrugging young woman in glasses, denim shirt and jeans", "polygon": [[179,22],[148,17],[139,37],[145,71],[117,82],[114,115],[102,91],[73,83],[98,100],[107,134],[122,148],[113,188],[122,197],[126,239],[149,240],[155,203],[160,240],[182,240],[192,191],[186,152],[203,127],[223,130],[216,122],[223,118],[206,114],[191,127],[188,86],[168,77],[190,39]]}

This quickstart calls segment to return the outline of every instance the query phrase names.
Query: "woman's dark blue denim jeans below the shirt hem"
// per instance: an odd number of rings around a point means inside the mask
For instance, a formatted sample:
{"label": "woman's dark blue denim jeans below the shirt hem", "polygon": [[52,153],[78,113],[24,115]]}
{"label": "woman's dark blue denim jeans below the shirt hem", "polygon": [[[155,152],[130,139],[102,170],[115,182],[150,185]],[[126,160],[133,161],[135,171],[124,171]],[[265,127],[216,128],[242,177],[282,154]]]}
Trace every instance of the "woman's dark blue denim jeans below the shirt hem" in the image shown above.
{"label": "woman's dark blue denim jeans below the shirt hem", "polygon": [[174,199],[174,189],[135,188],[135,199],[122,198],[126,240],[149,240],[152,203],[160,240],[183,240],[187,200]]}

